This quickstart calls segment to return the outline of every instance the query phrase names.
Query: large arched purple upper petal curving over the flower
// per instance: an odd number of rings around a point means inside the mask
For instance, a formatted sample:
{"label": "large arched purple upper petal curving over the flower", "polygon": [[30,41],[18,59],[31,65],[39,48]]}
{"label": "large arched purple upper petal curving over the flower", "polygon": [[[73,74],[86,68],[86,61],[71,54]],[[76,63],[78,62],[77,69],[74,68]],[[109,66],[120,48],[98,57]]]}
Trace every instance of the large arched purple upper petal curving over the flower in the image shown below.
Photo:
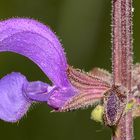
{"label": "large arched purple upper petal curving over the flower", "polygon": [[56,35],[47,26],[20,18],[0,22],[0,52],[2,51],[28,57],[55,85],[69,85],[64,51]]}

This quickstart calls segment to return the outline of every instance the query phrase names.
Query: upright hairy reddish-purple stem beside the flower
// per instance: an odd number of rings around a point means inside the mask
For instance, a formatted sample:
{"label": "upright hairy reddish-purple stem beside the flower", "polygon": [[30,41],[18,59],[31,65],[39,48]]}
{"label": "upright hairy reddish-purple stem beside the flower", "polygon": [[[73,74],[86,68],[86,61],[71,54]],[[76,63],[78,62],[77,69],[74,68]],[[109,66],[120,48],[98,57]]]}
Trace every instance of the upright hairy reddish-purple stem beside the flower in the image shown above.
{"label": "upright hairy reddish-purple stem beside the flower", "polygon": [[[112,0],[112,46],[113,84],[129,91],[128,103],[132,88],[132,0]],[[112,139],[133,139],[131,112],[121,117]]]}

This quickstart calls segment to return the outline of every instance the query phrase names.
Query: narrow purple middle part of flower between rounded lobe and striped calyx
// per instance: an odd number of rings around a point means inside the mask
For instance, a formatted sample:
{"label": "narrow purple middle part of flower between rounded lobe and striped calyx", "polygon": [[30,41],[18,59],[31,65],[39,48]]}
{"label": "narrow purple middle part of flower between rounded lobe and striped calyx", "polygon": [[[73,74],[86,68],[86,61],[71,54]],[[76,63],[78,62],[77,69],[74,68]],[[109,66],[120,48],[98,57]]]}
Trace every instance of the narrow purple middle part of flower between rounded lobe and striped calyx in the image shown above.
{"label": "narrow purple middle part of flower between rounded lobe and striped calyx", "polygon": [[24,85],[24,94],[31,101],[47,102],[49,106],[58,110],[76,94],[76,91],[73,87],[60,88],[36,81]]}

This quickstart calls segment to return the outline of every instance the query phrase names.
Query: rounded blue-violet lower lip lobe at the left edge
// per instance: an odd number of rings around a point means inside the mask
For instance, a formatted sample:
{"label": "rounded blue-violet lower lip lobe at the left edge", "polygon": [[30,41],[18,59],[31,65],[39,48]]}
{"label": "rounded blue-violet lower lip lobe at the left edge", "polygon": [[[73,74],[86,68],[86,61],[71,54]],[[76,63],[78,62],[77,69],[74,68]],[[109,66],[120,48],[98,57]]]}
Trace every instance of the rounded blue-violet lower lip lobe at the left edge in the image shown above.
{"label": "rounded blue-violet lower lip lobe at the left edge", "polygon": [[6,75],[0,80],[0,118],[16,122],[28,110],[29,102],[22,93],[26,78],[19,73]]}

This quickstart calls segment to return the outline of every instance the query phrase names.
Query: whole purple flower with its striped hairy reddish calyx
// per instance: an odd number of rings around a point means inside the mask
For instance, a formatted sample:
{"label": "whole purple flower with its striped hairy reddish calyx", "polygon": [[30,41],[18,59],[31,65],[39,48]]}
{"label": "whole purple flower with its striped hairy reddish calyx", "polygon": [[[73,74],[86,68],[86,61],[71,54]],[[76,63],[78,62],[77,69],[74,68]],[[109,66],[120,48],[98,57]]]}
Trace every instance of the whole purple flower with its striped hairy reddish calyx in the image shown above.
{"label": "whole purple flower with its striped hairy reddish calyx", "polygon": [[[67,111],[92,105],[110,88],[110,74],[94,70],[89,74],[67,64],[62,45],[51,29],[31,19],[9,19],[0,22],[0,52],[15,52],[34,63],[52,81],[52,85],[29,82],[20,73],[0,80],[0,118],[18,121],[32,102],[47,102],[56,111]],[[96,73],[97,76],[94,76]],[[106,76],[108,80],[101,77]]]}

